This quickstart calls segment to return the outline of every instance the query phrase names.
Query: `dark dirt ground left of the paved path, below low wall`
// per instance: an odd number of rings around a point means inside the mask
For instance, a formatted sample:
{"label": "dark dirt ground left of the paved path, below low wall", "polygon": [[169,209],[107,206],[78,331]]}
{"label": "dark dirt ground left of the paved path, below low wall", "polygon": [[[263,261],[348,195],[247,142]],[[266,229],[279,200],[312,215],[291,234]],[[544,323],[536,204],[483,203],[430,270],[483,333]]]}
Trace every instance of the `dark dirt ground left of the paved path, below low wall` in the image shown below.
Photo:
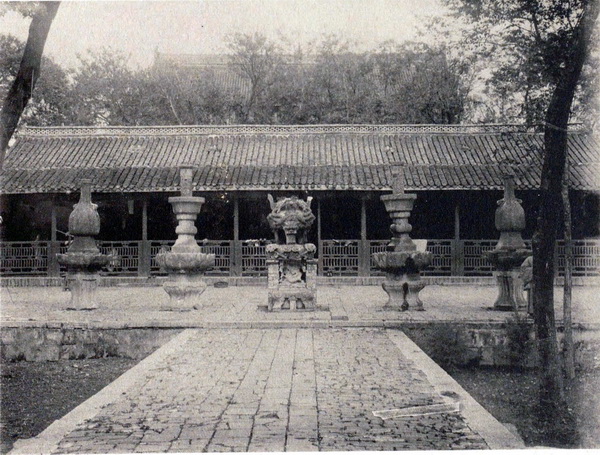
{"label": "dark dirt ground left of the paved path, below low wall", "polygon": [[106,358],[0,364],[1,453],[16,439],[39,434],[137,362]]}

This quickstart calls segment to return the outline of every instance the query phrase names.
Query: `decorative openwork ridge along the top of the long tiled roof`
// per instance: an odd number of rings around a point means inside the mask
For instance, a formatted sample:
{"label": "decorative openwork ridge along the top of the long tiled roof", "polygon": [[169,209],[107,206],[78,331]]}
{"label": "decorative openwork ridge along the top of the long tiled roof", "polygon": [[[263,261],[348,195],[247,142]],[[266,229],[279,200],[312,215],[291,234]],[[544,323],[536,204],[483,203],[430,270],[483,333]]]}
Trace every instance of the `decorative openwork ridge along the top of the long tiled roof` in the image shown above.
{"label": "decorative openwork ridge along the top of the long tiled roof", "polygon": [[[573,124],[581,132],[581,124]],[[528,133],[526,125],[487,124],[319,124],[319,125],[168,125],[168,126],[27,126],[21,137],[73,136],[194,136],[194,135],[284,135],[284,134],[489,134]]]}

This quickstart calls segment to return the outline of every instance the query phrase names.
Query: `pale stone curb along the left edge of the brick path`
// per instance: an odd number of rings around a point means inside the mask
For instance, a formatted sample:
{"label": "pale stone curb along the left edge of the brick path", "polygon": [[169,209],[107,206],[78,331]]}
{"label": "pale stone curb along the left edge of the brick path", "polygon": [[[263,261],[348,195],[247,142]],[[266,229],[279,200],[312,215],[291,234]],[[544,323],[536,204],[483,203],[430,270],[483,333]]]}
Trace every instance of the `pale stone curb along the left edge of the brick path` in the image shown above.
{"label": "pale stone curb along the left edge of the brick path", "polygon": [[31,439],[17,440],[10,455],[17,454],[48,454],[57,449],[60,441],[71,433],[78,424],[95,416],[101,408],[118,400],[136,381],[148,370],[163,365],[165,360],[181,349],[189,338],[195,333],[194,330],[186,330],[164,346],[150,354],[136,366],[119,376],[97,394],[88,398],[67,415],[56,420],[39,435]]}

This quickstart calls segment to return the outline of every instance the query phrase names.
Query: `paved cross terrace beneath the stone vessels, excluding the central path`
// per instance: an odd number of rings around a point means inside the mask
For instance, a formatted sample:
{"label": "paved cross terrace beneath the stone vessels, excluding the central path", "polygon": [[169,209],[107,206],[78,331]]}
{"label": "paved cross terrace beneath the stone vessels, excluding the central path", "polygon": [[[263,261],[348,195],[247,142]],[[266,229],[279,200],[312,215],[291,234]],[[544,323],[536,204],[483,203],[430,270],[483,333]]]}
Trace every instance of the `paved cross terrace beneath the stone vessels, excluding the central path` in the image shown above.
{"label": "paved cross terrace beneath the stone vessels, excluding the central path", "polygon": [[[600,287],[573,289],[573,322],[600,325]],[[267,301],[265,287],[209,287],[198,311],[180,313],[161,307],[168,297],[161,287],[106,287],[97,293],[98,309],[68,311],[69,292],[60,287],[0,288],[4,327],[82,324],[122,327],[272,327],[310,324],[313,327],[382,326],[386,322],[502,322],[511,312],[491,311],[495,286],[427,286],[421,291],[426,311],[381,311],[387,295],[380,286],[322,286],[318,310],[310,313],[257,311]],[[562,320],[562,288],[555,288],[556,318]]]}

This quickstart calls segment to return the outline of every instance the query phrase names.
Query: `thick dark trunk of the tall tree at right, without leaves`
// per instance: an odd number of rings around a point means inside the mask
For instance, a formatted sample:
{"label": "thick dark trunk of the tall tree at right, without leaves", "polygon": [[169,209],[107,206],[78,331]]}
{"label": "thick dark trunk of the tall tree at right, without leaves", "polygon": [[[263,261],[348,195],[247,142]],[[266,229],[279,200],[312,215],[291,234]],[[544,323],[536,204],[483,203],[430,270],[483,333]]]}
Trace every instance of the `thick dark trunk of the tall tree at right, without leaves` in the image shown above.
{"label": "thick dark trunk of the tall tree at right, without leaves", "polygon": [[541,207],[533,236],[533,316],[540,362],[540,404],[549,415],[563,402],[563,382],[554,320],[554,245],[562,212],[562,184],[567,153],[567,127],[573,97],[585,62],[598,0],[590,0],[574,32],[570,58],[558,80],[546,112]]}

